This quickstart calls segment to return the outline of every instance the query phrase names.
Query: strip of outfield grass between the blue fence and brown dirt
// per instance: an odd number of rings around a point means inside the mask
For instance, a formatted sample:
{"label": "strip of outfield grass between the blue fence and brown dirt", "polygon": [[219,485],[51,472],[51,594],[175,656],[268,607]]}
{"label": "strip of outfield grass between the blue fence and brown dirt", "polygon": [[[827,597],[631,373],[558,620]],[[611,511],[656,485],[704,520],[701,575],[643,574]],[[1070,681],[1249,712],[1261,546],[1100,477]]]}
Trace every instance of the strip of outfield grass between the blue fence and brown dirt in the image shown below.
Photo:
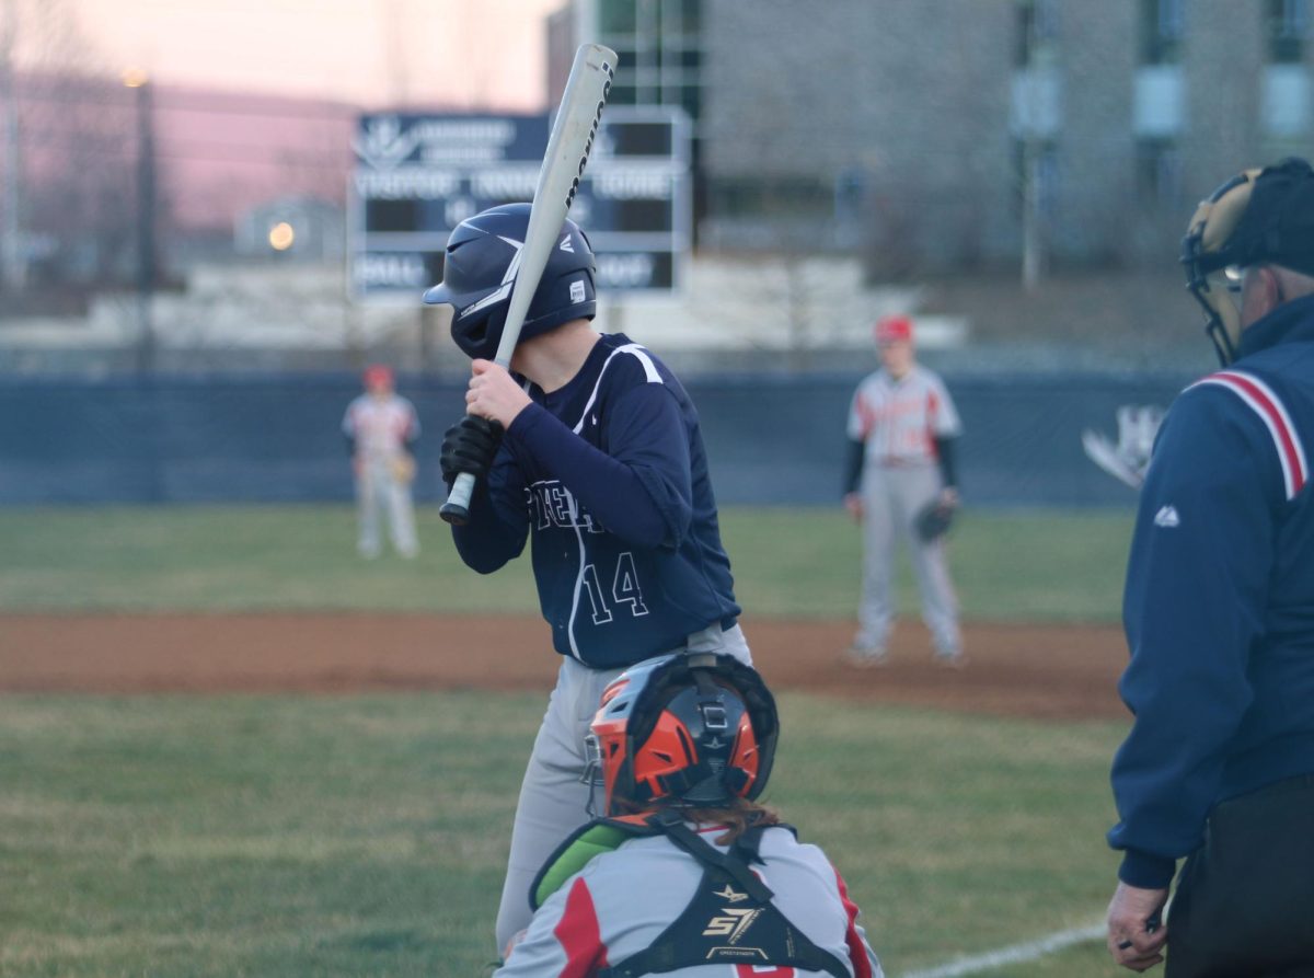
{"label": "strip of outfield grass between the blue fence and brown dirt", "polygon": [[[415,561],[361,561],[353,518],[346,506],[0,510],[0,611],[537,609],[527,559],[489,584],[460,564],[432,509]],[[727,509],[721,523],[752,615],[853,617],[859,542],[842,513]],[[963,614],[1117,620],[1130,530],[1121,511],[968,510],[950,540]],[[913,610],[907,568],[899,590]]]}

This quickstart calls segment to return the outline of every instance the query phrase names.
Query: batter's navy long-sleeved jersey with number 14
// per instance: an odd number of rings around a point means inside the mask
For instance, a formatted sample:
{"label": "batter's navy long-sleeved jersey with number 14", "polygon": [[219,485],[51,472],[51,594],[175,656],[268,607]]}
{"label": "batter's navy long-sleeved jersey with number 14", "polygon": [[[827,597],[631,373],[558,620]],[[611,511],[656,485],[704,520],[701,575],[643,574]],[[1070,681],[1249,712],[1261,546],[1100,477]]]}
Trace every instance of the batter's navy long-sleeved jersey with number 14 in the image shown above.
{"label": "batter's navy long-sleeved jersey with number 14", "polygon": [[671,649],[738,615],[698,413],[675,376],[603,335],[560,390],[528,386],[493,468],[453,527],[490,573],[533,534],[533,577],[557,652],[594,668]]}

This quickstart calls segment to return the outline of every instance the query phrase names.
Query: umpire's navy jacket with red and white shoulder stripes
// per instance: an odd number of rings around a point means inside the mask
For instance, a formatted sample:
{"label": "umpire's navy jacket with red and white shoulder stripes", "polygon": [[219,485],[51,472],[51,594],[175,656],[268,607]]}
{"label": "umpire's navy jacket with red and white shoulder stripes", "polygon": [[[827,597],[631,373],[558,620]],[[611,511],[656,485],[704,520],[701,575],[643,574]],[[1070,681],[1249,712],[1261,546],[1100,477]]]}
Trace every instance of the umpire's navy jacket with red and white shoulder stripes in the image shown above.
{"label": "umpire's navy jacket with red and white shoulder stripes", "polygon": [[1131,546],[1113,764],[1120,877],[1167,886],[1210,808],[1314,772],[1314,297],[1176,400]]}

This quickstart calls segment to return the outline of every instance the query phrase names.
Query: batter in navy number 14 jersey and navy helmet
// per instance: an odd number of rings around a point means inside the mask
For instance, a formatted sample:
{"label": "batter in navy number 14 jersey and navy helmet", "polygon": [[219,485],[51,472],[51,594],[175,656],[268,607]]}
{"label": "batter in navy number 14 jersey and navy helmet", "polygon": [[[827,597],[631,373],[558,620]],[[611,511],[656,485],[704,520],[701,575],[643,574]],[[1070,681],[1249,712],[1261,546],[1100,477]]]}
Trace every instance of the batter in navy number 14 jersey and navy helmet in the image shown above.
{"label": "batter in navy number 14 jersey and navy helmet", "polygon": [[426,301],[453,308],[452,338],[473,358],[469,414],[443,442],[443,476],[478,477],[469,523],[453,527],[481,573],[533,539],[543,617],[561,655],[511,833],[498,946],[531,916],[533,874],[587,820],[583,744],[619,672],[671,651],[749,661],[698,413],[675,376],[628,338],[600,335],[594,256],[566,221],[530,304],[511,367],[497,351],[530,208],[493,208],[447,244]]}

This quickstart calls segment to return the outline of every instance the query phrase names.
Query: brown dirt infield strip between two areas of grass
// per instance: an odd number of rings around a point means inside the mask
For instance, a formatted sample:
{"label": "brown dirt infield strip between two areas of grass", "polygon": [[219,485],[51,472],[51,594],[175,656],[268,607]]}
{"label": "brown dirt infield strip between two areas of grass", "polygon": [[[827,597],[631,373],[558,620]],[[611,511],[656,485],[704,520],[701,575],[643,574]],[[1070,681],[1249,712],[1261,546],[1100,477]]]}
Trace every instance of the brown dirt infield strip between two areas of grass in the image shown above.
{"label": "brown dirt infield strip between two areas of grass", "polygon": [[[1021,716],[1125,716],[1113,627],[970,624],[967,668],[930,660],[903,623],[880,669],[840,649],[848,622],[745,620],[777,689]],[[378,614],[3,615],[0,690],[208,693],[402,689],[543,690],[557,656],[537,618]]]}

